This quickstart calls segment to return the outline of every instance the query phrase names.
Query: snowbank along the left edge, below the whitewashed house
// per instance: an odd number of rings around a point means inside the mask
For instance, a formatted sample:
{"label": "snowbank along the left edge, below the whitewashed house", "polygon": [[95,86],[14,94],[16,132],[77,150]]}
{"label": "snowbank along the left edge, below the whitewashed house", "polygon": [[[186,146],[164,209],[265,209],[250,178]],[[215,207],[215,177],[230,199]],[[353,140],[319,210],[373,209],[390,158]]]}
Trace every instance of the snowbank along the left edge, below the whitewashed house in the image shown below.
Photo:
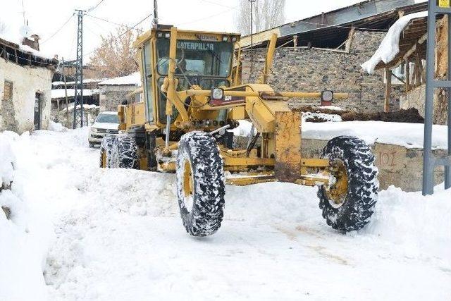
{"label": "snowbank along the left edge, below the whitewashed house", "polygon": [[47,296],[42,271],[49,225],[32,204],[36,198],[26,189],[26,171],[15,159],[18,140],[28,138],[27,133],[22,137],[0,133],[0,177],[8,185],[13,180],[11,189],[0,189],[0,207],[10,213],[7,219],[0,208],[0,300],[41,300]]}

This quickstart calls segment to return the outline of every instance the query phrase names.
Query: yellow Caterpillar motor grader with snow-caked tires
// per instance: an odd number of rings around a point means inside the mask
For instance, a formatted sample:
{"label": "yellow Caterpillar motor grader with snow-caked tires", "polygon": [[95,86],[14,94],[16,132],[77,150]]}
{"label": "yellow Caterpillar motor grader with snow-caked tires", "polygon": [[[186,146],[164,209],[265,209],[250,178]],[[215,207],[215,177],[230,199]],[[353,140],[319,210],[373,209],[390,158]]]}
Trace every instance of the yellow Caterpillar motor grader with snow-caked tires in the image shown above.
{"label": "yellow Caterpillar motor grader with snow-caked tires", "polygon": [[[347,95],[274,91],[266,82],[276,36],[268,42],[258,82],[243,84],[239,40],[237,34],[170,25],[138,37],[142,89],[132,94],[142,101],[118,106],[125,134],[104,137],[100,166],[175,172],[183,225],[194,236],[221,226],[226,183],[317,185],[330,226],[362,228],[378,193],[371,149],[356,137],[340,136],[327,143],[321,158],[302,156],[302,113],[287,104],[292,97],[330,102]],[[251,121],[252,129],[247,145],[237,148],[230,130],[241,120]]]}

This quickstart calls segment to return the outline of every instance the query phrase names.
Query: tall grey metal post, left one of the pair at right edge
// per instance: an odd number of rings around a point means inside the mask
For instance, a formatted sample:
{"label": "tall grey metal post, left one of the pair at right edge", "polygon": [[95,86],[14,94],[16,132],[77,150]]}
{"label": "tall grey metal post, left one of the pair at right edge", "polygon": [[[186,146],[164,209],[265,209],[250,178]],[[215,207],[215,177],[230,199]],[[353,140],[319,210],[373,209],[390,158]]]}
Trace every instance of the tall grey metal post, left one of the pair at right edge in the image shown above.
{"label": "tall grey metal post, left one of the pair at right edge", "polygon": [[435,79],[435,1],[429,1],[428,44],[426,53],[426,104],[424,106],[423,195],[434,192],[434,158],[432,154],[432,118]]}

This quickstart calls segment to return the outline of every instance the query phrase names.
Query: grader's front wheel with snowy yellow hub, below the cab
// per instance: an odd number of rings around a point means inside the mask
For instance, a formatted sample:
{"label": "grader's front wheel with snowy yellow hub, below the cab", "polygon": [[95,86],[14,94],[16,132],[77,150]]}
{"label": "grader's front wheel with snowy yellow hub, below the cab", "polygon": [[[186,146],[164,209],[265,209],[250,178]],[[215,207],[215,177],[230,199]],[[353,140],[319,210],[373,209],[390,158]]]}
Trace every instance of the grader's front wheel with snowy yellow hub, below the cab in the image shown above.
{"label": "grader's front wheel with snowy yellow hub, below the cab", "polygon": [[181,137],[177,195],[187,233],[206,236],[218,231],[225,203],[224,169],[216,140],[208,133],[196,131]]}

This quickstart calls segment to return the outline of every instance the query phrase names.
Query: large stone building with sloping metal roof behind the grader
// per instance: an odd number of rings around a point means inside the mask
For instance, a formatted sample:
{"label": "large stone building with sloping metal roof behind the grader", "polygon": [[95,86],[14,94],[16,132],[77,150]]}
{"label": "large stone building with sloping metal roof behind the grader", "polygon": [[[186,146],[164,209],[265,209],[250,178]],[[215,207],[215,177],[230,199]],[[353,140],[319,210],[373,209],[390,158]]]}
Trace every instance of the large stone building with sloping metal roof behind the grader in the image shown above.
{"label": "large stone building with sloping metal roof behind the grader", "polygon": [[[242,82],[254,82],[264,67],[266,45],[278,36],[268,84],[277,91],[334,90],[350,95],[335,106],[355,111],[383,111],[385,73],[366,73],[361,64],[373,56],[387,30],[404,13],[426,11],[427,3],[370,0],[337,11],[242,37]],[[253,58],[253,59],[251,59]],[[252,61],[252,62],[251,62]],[[402,85],[393,85],[390,107],[399,109]],[[292,99],[292,106],[319,104],[319,99]]]}

